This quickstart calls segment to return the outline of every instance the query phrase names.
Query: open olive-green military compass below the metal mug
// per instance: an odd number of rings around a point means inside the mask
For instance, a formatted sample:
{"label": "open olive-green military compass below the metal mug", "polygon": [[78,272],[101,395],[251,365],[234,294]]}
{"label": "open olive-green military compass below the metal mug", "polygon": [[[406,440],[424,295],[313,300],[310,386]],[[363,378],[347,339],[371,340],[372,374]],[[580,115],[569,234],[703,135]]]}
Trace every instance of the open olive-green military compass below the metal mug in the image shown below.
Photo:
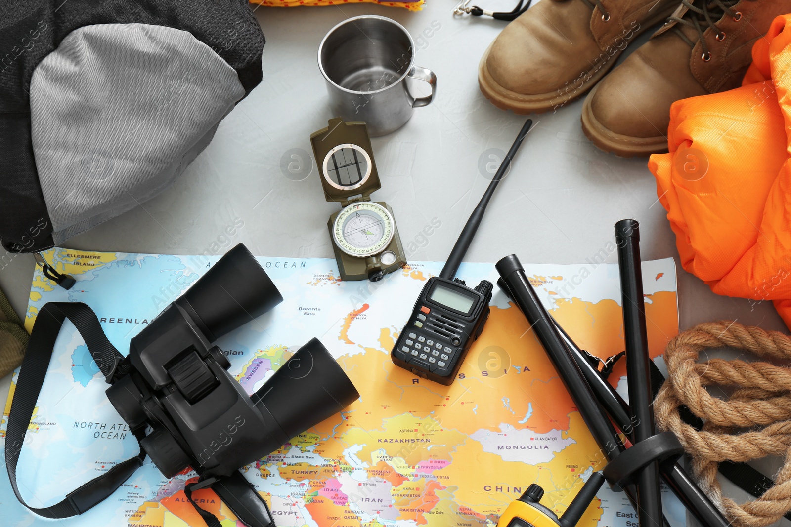
{"label": "open olive-green military compass below the metal mug", "polygon": [[343,280],[381,280],[407,263],[392,209],[370,201],[381,187],[365,122],[330,119],[310,136],[327,201],[343,209],[330,217],[335,259]]}

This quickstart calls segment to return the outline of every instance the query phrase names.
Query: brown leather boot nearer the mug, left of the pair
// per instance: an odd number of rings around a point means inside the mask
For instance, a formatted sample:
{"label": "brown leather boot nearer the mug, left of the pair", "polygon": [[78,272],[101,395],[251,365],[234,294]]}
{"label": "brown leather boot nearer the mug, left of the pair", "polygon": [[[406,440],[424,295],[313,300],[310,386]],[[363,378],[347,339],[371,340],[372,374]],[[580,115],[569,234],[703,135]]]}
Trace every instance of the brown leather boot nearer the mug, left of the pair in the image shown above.
{"label": "brown leather boot nearer the mug, left of the pair", "polygon": [[626,45],[679,0],[543,0],[508,24],[483,54],[483,95],[517,114],[561,107],[587,92]]}

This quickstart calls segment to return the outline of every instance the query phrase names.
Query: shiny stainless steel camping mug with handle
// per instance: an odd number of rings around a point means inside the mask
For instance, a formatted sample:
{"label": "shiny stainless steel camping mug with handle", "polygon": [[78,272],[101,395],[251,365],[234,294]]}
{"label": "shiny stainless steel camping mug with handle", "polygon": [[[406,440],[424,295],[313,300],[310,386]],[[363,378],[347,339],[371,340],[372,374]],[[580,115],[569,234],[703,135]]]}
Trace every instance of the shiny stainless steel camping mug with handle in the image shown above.
{"label": "shiny stainless steel camping mug with handle", "polygon": [[[363,15],[341,22],[319,45],[333,115],[365,121],[372,136],[405,125],[412,108],[426,106],[437,90],[433,71],[414,66],[414,41],[396,21]],[[426,81],[431,95],[413,97],[407,77]]]}

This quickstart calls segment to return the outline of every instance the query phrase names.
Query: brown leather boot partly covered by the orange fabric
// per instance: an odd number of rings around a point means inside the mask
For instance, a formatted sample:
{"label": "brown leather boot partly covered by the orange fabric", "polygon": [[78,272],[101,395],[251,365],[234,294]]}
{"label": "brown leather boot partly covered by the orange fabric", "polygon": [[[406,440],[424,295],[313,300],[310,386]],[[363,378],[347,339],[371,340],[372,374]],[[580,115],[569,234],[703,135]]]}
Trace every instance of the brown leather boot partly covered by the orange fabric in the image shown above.
{"label": "brown leather boot partly covered by the orange fabric", "polygon": [[619,156],[668,151],[676,100],[741,85],[755,40],[791,0],[683,0],[667,24],[590,92],[582,130]]}

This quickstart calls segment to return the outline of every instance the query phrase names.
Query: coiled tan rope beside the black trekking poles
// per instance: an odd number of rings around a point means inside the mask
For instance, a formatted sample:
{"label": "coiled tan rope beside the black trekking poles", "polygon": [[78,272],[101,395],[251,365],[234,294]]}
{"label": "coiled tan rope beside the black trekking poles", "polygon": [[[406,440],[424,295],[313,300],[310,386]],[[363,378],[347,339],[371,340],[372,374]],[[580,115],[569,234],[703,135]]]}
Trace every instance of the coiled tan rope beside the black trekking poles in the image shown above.
{"label": "coiled tan rope beside the black trekking poles", "polygon": [[[739,359],[696,362],[706,349],[725,346],[791,360],[791,338],[783,333],[738,322],[700,324],[668,344],[668,380],[657,394],[654,412],[657,426],[675,432],[691,455],[698,484],[725,517],[736,527],[763,527],[791,510],[791,368]],[[713,397],[706,386],[721,386],[730,395]],[[701,430],[682,420],[682,405],[704,420]],[[773,487],[741,505],[722,495],[716,477],[720,461],[766,456],[784,459]]]}

